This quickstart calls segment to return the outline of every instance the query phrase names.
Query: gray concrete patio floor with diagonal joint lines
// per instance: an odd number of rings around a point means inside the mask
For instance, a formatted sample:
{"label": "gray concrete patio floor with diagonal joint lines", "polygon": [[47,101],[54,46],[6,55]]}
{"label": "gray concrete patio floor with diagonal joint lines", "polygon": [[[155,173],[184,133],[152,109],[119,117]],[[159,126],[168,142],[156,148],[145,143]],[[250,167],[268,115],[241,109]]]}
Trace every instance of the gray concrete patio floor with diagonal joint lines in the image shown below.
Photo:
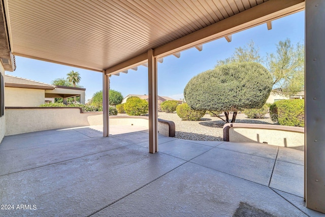
{"label": "gray concrete patio floor with diagonal joint lines", "polygon": [[5,137],[0,216],[325,216],[305,207],[301,150],[159,135],[150,154],[143,127],[101,131]]}

